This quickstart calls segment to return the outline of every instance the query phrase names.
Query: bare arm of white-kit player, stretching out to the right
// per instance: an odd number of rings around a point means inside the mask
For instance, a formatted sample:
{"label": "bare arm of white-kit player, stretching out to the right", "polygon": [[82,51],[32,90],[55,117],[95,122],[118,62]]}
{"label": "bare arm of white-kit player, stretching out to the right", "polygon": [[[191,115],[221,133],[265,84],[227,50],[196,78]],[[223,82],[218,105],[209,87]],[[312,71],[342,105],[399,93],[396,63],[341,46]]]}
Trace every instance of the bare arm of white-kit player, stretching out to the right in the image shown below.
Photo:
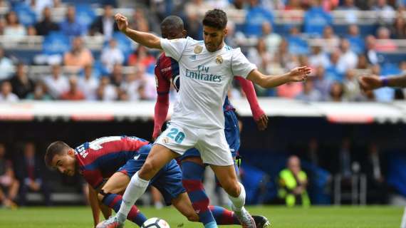
{"label": "bare arm of white-kit player, stretching out to the right", "polygon": [[249,73],[246,79],[264,88],[274,88],[289,82],[305,81],[309,73],[311,73],[311,68],[307,66],[293,68],[289,73],[281,76],[265,76],[255,69]]}

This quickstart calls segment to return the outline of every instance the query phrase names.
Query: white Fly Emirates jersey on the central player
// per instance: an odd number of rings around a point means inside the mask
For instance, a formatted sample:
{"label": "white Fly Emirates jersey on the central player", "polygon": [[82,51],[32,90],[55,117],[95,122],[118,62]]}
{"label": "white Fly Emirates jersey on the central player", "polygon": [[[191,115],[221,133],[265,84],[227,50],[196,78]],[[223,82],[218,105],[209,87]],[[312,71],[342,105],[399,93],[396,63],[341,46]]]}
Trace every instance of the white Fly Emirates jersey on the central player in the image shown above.
{"label": "white Fly Emirates jersey on the central player", "polygon": [[180,89],[171,121],[196,128],[224,128],[223,103],[234,76],[246,78],[256,66],[240,48],[207,51],[204,41],[161,38],[166,56],[179,63]]}

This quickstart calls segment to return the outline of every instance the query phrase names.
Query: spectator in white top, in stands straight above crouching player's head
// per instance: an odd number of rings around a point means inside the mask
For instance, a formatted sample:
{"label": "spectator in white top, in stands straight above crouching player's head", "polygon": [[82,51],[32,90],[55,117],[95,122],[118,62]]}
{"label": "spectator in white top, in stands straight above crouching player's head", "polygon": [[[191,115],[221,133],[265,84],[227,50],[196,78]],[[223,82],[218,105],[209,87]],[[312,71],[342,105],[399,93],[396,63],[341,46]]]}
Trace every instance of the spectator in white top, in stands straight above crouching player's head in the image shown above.
{"label": "spectator in white top, in stands straight above crouching player's head", "polygon": [[62,93],[65,93],[69,89],[68,78],[62,75],[60,65],[51,66],[51,75],[46,76],[43,82],[53,99],[60,98]]}

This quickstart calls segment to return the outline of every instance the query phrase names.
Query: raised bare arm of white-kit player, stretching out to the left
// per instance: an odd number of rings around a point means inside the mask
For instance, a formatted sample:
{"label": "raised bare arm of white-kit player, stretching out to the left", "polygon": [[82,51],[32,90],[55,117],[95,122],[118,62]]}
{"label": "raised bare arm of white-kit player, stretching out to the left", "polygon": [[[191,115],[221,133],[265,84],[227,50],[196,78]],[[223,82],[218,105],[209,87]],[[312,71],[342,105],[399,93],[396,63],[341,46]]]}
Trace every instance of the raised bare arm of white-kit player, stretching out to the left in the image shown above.
{"label": "raised bare arm of white-kit player, stretching out to the left", "polygon": [[127,17],[123,16],[122,14],[115,14],[114,19],[117,23],[118,29],[120,29],[125,36],[128,36],[133,41],[140,43],[142,46],[146,46],[147,48],[162,50],[160,37],[155,36],[152,33],[145,33],[128,28]]}

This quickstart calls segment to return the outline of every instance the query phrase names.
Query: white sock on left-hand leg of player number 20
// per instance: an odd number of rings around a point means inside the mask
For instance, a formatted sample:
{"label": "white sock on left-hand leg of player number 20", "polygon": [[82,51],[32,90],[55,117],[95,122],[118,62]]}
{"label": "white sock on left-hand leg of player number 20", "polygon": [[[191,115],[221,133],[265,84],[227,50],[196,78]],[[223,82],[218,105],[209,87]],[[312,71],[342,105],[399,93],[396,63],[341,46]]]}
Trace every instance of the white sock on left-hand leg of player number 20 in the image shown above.
{"label": "white sock on left-hand leg of player number 20", "polygon": [[130,212],[132,205],[134,205],[135,201],[137,201],[137,199],[139,199],[141,195],[144,194],[149,183],[149,180],[142,180],[138,176],[138,172],[135,172],[135,175],[131,177],[130,183],[128,183],[127,189],[124,192],[123,202],[120,205],[120,210],[117,212],[116,215],[118,222],[125,222],[125,219],[127,219],[128,212]]}

